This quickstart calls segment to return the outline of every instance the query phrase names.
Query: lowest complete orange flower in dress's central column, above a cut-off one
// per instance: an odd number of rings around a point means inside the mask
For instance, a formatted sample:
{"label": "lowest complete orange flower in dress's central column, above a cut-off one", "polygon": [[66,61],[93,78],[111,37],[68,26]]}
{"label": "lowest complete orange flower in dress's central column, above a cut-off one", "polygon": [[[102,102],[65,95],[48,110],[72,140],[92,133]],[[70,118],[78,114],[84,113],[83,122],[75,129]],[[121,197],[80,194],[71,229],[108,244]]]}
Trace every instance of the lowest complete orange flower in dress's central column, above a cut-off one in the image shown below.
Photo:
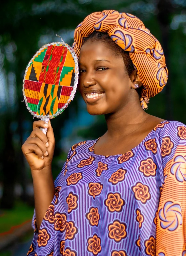
{"label": "lowest complete orange flower in dress's central column, above a cut-off one", "polygon": [[112,224],[108,226],[109,238],[114,239],[115,242],[120,242],[121,239],[126,238],[126,224],[120,223],[119,220],[114,220]]}

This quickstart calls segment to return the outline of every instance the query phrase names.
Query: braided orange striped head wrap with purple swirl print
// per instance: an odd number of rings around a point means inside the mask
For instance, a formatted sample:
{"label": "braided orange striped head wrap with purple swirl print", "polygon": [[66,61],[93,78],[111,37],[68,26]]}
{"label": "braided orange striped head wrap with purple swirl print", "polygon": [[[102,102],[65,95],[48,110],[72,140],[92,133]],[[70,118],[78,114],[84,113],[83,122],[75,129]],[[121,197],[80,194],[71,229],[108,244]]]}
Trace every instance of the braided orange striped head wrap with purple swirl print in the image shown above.
{"label": "braided orange striped head wrap with purple swirl print", "polygon": [[168,70],[159,41],[145,28],[139,18],[114,10],[105,10],[88,15],[74,32],[73,49],[80,56],[83,38],[94,30],[108,32],[111,39],[129,52],[134,68],[143,84],[140,103],[147,109],[150,97],[161,92],[167,83]]}

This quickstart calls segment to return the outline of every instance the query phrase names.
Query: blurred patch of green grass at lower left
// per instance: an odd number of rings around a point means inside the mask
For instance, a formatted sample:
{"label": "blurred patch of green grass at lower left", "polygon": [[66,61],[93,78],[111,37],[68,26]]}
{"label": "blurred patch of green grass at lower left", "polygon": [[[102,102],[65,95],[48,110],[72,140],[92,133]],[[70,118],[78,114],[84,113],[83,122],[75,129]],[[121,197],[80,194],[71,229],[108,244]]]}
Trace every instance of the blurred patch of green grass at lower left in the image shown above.
{"label": "blurred patch of green grass at lower left", "polygon": [[0,216],[0,233],[9,231],[11,227],[32,219],[33,210],[33,207],[20,201],[16,202],[13,209],[4,210],[3,214]]}

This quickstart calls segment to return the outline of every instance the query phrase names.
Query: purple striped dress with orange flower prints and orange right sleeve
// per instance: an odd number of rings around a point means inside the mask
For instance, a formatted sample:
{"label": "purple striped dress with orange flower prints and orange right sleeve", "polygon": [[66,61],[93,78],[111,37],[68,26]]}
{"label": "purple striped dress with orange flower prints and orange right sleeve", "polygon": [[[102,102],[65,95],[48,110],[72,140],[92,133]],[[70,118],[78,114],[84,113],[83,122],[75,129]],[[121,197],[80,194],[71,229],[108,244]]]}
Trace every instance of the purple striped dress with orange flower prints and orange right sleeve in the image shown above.
{"label": "purple striped dress with orange flower prints and orange right sleeve", "polygon": [[185,256],[186,126],[158,124],[135,148],[75,144],[29,256]]}

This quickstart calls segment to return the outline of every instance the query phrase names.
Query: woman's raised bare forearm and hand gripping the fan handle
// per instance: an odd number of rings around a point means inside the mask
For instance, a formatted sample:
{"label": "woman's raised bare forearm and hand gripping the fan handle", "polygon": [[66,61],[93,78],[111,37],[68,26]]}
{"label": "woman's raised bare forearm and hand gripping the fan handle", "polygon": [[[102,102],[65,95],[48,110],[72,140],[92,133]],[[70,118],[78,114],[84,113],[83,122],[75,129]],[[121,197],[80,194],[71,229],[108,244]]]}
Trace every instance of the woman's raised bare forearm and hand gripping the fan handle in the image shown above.
{"label": "woman's raised bare forearm and hand gripping the fan handle", "polygon": [[[48,128],[46,135],[40,127]],[[22,151],[31,169],[38,230],[55,192],[51,168],[54,148],[55,138],[51,122],[46,124],[44,121],[35,121],[33,131],[23,144]]]}

